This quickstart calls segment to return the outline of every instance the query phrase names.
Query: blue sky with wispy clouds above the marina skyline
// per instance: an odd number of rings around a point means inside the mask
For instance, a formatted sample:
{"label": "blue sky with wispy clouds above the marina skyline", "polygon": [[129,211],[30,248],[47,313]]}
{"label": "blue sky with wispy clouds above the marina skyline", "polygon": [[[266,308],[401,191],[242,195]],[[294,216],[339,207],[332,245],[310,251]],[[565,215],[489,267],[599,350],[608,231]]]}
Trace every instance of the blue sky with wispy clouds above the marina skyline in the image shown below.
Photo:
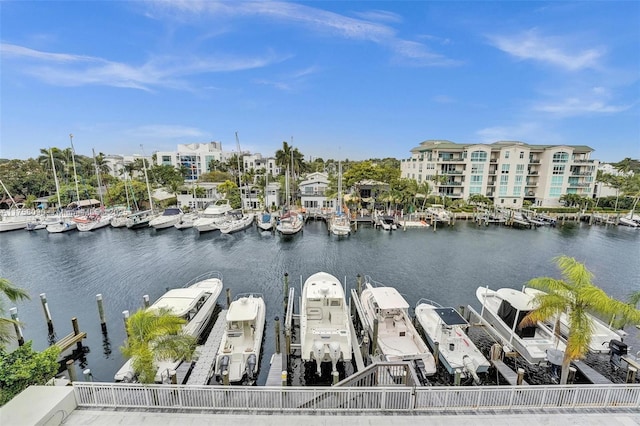
{"label": "blue sky with wispy clouds above the marina skyline", "polygon": [[0,157],[427,139],[640,157],[640,2],[2,1]]}

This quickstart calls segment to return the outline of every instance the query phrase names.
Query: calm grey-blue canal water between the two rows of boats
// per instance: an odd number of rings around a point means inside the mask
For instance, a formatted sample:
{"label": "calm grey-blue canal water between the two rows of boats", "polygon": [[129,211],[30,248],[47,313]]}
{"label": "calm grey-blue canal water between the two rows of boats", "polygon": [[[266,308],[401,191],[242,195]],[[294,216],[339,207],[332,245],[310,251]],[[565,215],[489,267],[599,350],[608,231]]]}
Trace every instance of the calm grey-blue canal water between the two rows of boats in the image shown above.
{"label": "calm grey-blue canal water between the two rows of boats", "polygon": [[[224,275],[232,294],[259,292],[267,303],[267,328],[261,373],[266,380],[274,352],[273,319],[283,316],[283,276],[300,294],[301,277],[326,271],[348,290],[356,275],[395,286],[409,304],[422,297],[442,305],[471,305],[478,286],[520,288],[538,276],[559,277],[552,258],[573,256],[595,274],[595,284],[618,299],[640,288],[640,232],[625,227],[518,230],[476,227],[457,222],[451,228],[393,233],[360,228],[351,237],[328,236],[323,222],[309,222],[303,234],[283,240],[255,228],[232,235],[198,235],[194,230],[106,228],[89,233],[49,234],[14,231],[0,235],[0,274],[29,291],[19,303],[24,335],[38,350],[48,345],[47,327],[38,295],[46,293],[58,338],[71,332],[71,318],[88,333],[82,368],[95,380],[112,381],[124,360],[122,311],[135,311],[142,296],[151,301],[168,287],[181,287],[211,270]],[[100,330],[95,296],[102,293],[108,334]],[[224,304],[224,291],[219,301]],[[640,350],[635,329],[627,339]],[[606,365],[606,363],[604,363]]]}

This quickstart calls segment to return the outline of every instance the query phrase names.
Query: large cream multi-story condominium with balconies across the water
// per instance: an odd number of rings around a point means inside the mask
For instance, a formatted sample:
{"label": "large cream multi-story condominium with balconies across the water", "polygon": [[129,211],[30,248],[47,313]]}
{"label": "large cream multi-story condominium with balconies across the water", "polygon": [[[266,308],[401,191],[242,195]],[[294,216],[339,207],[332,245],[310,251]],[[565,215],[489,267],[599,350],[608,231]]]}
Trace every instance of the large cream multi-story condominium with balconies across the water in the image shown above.
{"label": "large cream multi-story condominium with balconies across the water", "polygon": [[517,141],[459,144],[428,140],[402,160],[401,176],[429,182],[433,195],[467,199],[481,194],[496,206],[560,206],[563,194],[593,195],[597,160],[584,145]]}

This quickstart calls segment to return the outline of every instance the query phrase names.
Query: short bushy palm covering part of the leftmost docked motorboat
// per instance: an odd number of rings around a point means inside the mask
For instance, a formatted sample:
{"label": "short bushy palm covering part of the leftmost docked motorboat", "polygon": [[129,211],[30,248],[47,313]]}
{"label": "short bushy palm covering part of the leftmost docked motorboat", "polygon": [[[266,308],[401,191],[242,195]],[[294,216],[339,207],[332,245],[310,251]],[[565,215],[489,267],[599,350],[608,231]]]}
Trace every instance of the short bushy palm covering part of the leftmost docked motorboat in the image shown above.
{"label": "short bushy palm covering part of the leftmost docked motorboat", "polygon": [[140,309],[129,317],[127,341],[120,350],[132,359],[131,366],[138,381],[154,383],[156,360],[191,360],[197,340],[181,333],[185,323],[185,319],[166,309]]}

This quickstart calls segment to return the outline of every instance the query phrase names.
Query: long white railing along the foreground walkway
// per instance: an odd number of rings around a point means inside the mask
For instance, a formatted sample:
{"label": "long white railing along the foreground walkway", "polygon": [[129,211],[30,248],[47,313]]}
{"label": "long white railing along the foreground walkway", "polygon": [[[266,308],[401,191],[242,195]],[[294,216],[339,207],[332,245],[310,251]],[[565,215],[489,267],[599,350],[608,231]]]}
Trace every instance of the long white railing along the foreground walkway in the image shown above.
{"label": "long white railing along the foreground walkway", "polygon": [[240,387],[75,382],[79,407],[227,412],[638,409],[640,385]]}

